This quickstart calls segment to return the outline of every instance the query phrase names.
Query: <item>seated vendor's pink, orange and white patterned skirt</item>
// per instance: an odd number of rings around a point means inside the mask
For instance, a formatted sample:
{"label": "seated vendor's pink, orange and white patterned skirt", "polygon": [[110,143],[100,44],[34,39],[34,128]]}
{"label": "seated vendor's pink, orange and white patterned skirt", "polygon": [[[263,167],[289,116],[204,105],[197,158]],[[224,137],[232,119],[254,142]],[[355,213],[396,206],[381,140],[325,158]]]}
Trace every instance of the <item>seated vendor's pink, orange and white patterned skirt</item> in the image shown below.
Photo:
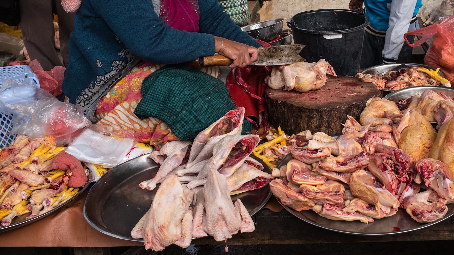
{"label": "seated vendor's pink, orange and white patterned skirt", "polygon": [[[189,63],[196,67],[196,64]],[[149,74],[163,67],[163,64],[141,62],[131,72],[122,78],[99,100],[95,117],[98,124],[110,125],[122,129],[138,142],[149,143],[160,149],[166,142],[179,140],[174,136],[166,123],[157,118],[139,119],[134,115],[137,104],[142,99],[142,81]],[[219,67],[206,67],[198,69],[217,78],[221,69]]]}

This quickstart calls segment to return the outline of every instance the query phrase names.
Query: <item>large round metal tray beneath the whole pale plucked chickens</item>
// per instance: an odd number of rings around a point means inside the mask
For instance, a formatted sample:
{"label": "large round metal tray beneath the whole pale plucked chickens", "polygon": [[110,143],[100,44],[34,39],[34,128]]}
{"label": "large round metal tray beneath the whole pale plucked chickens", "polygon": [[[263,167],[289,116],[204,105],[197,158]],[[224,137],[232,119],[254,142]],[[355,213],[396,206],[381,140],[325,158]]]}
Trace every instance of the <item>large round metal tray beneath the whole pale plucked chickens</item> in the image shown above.
{"label": "large round metal tray beneath the whole pale plucked chickens", "polygon": [[[265,172],[271,173],[262,160],[254,159],[264,165]],[[148,191],[141,189],[139,183],[153,178],[159,166],[149,154],[145,154],[106,172],[90,189],[85,201],[84,217],[88,223],[106,235],[143,242],[143,239],[132,238],[131,230],[150,208],[158,188]],[[240,198],[252,216],[265,206],[270,197],[271,189],[266,185],[232,196],[232,200]]]}

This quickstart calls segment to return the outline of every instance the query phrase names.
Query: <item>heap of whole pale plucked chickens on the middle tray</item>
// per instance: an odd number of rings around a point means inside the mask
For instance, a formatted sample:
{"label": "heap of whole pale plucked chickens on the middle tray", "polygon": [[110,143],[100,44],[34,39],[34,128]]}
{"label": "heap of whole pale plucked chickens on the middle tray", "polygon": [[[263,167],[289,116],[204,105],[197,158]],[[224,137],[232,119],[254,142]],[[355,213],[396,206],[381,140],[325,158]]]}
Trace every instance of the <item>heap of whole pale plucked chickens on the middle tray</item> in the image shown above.
{"label": "heap of whole pale plucked chickens on the middle tray", "polygon": [[240,135],[243,118],[244,108],[232,110],[194,142],[168,142],[151,154],[161,167],[140,187],[161,185],[131,232],[133,238],[143,238],[146,249],[159,251],[171,244],[186,248],[192,238],[212,235],[222,241],[255,229],[241,200],[233,203],[230,196],[261,188],[272,177],[249,157],[260,138]]}

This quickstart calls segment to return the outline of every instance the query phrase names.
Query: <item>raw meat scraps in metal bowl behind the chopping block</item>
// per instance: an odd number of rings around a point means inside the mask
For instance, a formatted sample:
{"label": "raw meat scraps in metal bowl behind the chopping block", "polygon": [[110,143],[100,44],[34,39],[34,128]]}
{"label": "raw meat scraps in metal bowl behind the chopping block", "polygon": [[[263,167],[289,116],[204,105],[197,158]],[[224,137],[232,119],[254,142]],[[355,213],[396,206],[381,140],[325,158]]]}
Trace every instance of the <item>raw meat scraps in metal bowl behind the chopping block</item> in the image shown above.
{"label": "raw meat scraps in metal bowl behind the chopping block", "polygon": [[415,86],[439,85],[440,82],[430,78],[418,68],[402,68],[398,71],[390,71],[384,75],[375,74],[356,74],[356,77],[361,78],[363,82],[374,83],[379,89],[398,90],[401,88]]}

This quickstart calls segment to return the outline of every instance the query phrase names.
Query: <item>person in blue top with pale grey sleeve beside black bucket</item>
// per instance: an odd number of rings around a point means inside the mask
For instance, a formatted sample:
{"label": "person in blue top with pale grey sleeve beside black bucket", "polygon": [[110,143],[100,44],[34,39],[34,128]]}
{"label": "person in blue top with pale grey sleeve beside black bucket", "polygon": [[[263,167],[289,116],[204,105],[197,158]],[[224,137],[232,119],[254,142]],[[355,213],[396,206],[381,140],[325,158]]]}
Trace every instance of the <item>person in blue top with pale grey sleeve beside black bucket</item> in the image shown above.
{"label": "person in blue top with pale grey sleeve beside black bucket", "polygon": [[[360,68],[395,62],[411,62],[412,48],[405,44],[404,34],[419,29],[416,14],[421,0],[350,0],[350,10],[362,10],[370,24],[366,27]],[[407,36],[413,43],[415,36]]]}

